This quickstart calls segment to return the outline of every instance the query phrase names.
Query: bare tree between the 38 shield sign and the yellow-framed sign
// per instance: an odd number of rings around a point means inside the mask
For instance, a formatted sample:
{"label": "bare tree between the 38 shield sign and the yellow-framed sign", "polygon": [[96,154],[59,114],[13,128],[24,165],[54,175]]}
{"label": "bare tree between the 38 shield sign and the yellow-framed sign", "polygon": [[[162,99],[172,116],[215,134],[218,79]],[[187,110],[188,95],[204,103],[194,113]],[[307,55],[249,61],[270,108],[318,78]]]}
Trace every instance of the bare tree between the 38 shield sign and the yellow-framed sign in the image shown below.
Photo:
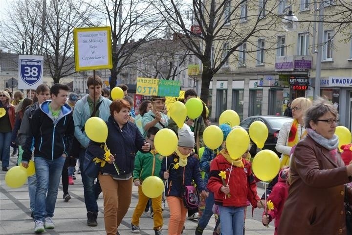
{"label": "bare tree between the 38 shield sign and the yellow-framed sign", "polygon": [[84,0],[50,0],[42,8],[44,20],[43,53],[54,83],[75,73],[73,29],[93,26],[93,8]]}

